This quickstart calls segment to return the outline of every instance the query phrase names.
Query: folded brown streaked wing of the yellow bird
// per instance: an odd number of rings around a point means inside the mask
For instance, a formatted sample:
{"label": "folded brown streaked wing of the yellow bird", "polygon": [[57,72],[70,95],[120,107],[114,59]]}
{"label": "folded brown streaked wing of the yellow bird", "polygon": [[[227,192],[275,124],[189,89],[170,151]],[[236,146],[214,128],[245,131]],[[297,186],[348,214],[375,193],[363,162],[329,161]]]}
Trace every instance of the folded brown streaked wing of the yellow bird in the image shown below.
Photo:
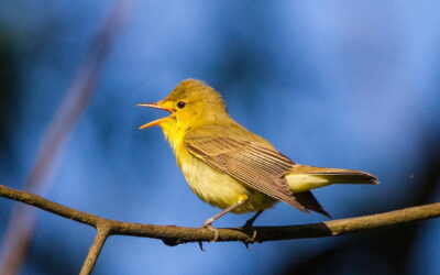
{"label": "folded brown streaked wing of the yellow bird", "polygon": [[298,202],[284,178],[295,163],[276,150],[257,142],[191,134],[185,139],[185,146],[211,167],[302,212],[308,212],[307,208]]}

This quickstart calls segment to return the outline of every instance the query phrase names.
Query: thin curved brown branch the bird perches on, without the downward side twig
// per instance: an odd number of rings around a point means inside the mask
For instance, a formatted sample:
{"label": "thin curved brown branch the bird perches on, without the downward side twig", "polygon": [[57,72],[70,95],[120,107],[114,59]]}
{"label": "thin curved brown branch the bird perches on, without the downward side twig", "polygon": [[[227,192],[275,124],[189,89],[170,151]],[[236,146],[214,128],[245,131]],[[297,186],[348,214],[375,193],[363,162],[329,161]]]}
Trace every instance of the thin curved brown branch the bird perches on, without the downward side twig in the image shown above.
{"label": "thin curved brown branch the bird perches on, without the downward side twig", "polygon": [[[168,245],[188,242],[209,242],[212,239],[212,232],[208,229],[141,224],[105,219],[95,215],[68,208],[36,195],[16,190],[2,185],[0,185],[0,196],[41,208],[45,211],[74,221],[89,224],[94,228],[97,228],[100,223],[107,223],[110,228],[110,235],[116,234],[153,238],[162,240]],[[255,227],[253,230],[256,230],[256,242],[266,242],[342,235],[362,230],[405,224],[408,222],[432,219],[437,217],[440,217],[440,202],[358,218],[300,226]],[[244,228],[219,229],[218,241],[251,242],[253,230]]]}

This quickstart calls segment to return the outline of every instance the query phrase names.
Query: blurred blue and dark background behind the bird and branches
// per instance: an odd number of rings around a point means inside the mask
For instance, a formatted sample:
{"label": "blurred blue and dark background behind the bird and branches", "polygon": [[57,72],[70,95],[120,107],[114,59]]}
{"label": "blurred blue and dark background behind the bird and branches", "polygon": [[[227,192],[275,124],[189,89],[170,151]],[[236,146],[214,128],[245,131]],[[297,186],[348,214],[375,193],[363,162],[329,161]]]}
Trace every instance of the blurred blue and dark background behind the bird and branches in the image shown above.
{"label": "blurred blue and dark background behind the bird and branches", "polygon": [[[113,1],[0,2],[0,183],[22,188],[38,142]],[[378,186],[315,191],[334,218],[440,200],[440,2],[139,1],[46,197],[110,219],[198,227],[218,210],[188,188],[157,101],[185,78],[301,164],[362,169]],[[0,237],[12,202],[0,199]],[[241,226],[228,215],[218,227]],[[257,226],[326,220],[279,204]],[[438,274],[440,222],[346,237],[197,244],[111,237],[95,274]],[[76,274],[95,230],[38,211],[23,274]],[[1,249],[1,248],[0,248]]]}

